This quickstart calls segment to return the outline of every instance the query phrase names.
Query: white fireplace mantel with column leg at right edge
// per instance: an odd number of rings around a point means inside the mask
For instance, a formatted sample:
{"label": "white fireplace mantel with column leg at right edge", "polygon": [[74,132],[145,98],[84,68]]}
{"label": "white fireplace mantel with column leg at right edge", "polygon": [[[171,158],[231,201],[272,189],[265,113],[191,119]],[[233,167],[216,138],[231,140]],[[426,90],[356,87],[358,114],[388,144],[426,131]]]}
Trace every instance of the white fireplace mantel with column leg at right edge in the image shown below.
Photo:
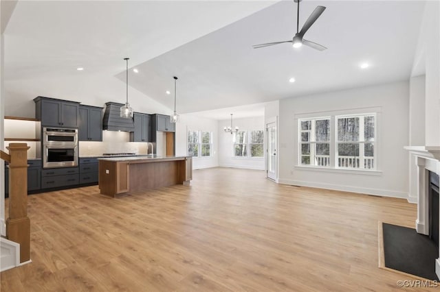
{"label": "white fireplace mantel with column leg at right edge", "polygon": [[[417,178],[411,178],[417,183],[417,220],[415,229],[418,233],[429,235],[428,226],[428,171],[440,175],[440,146],[405,146],[415,156]],[[440,254],[440,247],[439,247]],[[440,278],[440,258],[435,260],[435,273]]]}

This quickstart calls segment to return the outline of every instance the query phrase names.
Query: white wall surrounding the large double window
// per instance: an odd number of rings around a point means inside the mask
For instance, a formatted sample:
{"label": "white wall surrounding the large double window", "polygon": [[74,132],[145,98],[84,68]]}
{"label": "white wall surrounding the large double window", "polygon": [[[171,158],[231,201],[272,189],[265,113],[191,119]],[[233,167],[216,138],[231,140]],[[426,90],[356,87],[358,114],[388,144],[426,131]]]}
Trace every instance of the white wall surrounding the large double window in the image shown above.
{"label": "white wall surrounding the large double window", "polygon": [[[354,88],[332,93],[280,100],[280,182],[392,197],[408,195],[408,82]],[[365,175],[344,171],[296,168],[298,145],[295,115],[344,109],[379,107],[377,153],[381,173]]]}

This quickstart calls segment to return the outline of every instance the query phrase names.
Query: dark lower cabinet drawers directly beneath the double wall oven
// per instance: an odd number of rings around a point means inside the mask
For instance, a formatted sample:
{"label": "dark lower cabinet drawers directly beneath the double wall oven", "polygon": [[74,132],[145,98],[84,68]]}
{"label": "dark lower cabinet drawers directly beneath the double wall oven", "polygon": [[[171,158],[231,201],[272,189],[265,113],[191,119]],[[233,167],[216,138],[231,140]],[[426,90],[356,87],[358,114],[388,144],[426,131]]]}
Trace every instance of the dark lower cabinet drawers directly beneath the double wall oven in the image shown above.
{"label": "dark lower cabinet drawers directly beneath the double wall oven", "polygon": [[60,188],[79,184],[78,167],[43,169],[41,171],[41,188]]}

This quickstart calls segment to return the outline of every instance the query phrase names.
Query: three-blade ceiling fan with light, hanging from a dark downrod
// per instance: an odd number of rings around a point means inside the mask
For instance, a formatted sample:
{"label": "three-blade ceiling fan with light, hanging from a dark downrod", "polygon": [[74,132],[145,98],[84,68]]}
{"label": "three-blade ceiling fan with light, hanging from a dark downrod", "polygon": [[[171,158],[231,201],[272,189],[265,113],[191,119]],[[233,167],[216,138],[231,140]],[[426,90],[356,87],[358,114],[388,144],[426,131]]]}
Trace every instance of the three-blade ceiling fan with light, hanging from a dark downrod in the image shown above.
{"label": "three-blade ceiling fan with light, hanging from a dark downrod", "polygon": [[[312,47],[314,49],[317,49],[319,51],[324,51],[325,49],[327,49],[326,47],[319,45],[316,42],[311,42],[310,40],[305,40],[303,38],[303,36],[307,32],[307,30],[309,30],[311,25],[313,25],[315,23],[316,19],[318,19],[318,17],[322,14],[322,12],[324,12],[325,7],[324,6],[317,6],[315,8],[314,12],[311,12],[309,18],[304,23],[303,28],[300,30],[300,32],[298,32],[299,21],[300,21],[300,1],[302,1],[302,0],[294,0],[294,2],[298,3],[298,11],[297,11],[297,16],[296,16],[296,34],[295,34],[294,38],[292,38],[292,40],[285,40],[284,42],[292,42],[292,45],[294,46],[294,48],[298,48],[298,47],[301,47],[302,45],[306,45],[306,46]],[[267,42],[265,44],[253,45],[252,47],[254,47],[254,49],[259,49],[262,47],[269,47],[269,46],[273,46],[273,45],[283,44],[284,42]]]}

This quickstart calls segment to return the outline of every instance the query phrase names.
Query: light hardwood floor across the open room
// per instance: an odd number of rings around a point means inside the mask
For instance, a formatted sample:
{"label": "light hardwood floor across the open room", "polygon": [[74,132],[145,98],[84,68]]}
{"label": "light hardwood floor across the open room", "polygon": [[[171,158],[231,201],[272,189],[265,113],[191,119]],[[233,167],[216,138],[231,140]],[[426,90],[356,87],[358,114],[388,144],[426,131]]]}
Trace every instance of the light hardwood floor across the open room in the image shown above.
{"label": "light hardwood floor across the open room", "polygon": [[119,199],[98,186],[31,195],[32,263],[1,273],[1,291],[397,291],[411,280],[377,267],[377,221],[414,225],[404,199],[283,186],[263,171],[193,176]]}

